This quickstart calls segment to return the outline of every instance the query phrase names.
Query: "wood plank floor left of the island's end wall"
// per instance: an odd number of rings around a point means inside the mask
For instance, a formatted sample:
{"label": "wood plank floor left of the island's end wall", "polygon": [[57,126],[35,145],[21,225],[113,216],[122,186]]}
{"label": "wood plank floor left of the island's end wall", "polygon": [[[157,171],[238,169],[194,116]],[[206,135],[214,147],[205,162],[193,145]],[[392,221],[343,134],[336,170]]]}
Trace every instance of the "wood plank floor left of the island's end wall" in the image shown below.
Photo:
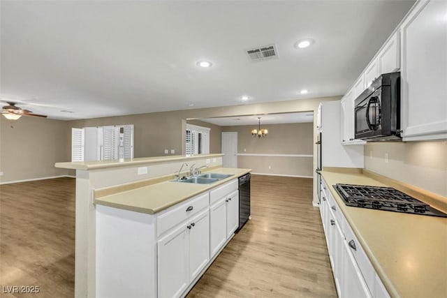
{"label": "wood plank floor left of the island's end wall", "polygon": [[1,185],[0,297],[73,297],[74,286],[75,179]]}

